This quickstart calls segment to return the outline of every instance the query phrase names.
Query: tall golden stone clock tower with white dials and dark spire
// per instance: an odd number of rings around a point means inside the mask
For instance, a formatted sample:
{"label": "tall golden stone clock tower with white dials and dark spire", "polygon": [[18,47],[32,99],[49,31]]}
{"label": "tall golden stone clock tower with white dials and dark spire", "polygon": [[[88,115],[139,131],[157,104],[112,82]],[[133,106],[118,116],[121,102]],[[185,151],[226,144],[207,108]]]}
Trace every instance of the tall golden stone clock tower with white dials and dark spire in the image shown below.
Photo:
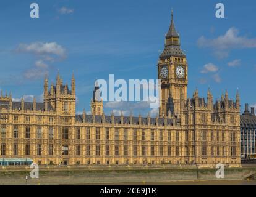
{"label": "tall golden stone clock tower with white dials and dark spire", "polygon": [[187,60],[174,27],[173,10],[164,50],[158,60],[158,79],[161,79],[160,117],[169,113],[179,115],[181,99],[187,99]]}

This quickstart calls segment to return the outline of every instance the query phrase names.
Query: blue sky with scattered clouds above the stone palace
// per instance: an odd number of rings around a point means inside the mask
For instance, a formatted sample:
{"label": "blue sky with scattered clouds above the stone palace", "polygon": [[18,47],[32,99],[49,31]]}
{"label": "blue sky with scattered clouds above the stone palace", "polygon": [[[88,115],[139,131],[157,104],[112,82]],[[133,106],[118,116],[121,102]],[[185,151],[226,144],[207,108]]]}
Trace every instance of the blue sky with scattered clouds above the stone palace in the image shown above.
{"label": "blue sky with scattered clouds above the stone palace", "polygon": [[[156,79],[173,8],[189,62],[188,96],[198,87],[206,97],[210,87],[215,99],[226,89],[235,98],[239,88],[242,110],[244,103],[256,105],[254,1],[33,2],[40,6],[40,18],[30,18],[32,1],[0,2],[0,88],[15,99],[35,95],[39,100],[44,73],[54,82],[58,70],[69,84],[75,73],[77,111],[90,111],[96,78]],[[225,6],[225,18],[215,17],[218,2]],[[38,49],[46,43],[54,50]],[[106,113],[113,110],[105,106]],[[148,110],[130,103],[114,108],[143,115]]]}

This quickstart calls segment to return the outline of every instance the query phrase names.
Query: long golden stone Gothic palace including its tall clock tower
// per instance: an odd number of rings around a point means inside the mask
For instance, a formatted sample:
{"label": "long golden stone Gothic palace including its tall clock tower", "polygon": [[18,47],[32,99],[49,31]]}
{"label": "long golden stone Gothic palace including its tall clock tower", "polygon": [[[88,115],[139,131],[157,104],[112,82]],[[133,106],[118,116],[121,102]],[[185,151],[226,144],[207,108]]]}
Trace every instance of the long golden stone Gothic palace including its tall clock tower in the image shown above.
{"label": "long golden stone Gothic palace including its tall clock tower", "polygon": [[[241,167],[240,98],[228,92],[213,102],[195,90],[187,98],[188,64],[179,34],[171,25],[158,60],[159,116],[114,116],[103,102],[91,101],[91,115],[76,114],[75,78],[71,88],[57,76],[45,78],[43,103],[0,98],[0,164],[29,158],[41,165],[197,164]],[[15,163],[12,163],[15,164]]]}

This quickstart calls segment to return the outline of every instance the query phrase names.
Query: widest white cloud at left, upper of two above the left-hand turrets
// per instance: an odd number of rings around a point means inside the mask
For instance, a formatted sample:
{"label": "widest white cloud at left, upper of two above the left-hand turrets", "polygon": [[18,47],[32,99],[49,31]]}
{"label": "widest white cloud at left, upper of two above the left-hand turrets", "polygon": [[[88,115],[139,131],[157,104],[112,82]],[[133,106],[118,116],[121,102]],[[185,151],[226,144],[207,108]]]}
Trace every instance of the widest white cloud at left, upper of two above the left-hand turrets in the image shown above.
{"label": "widest white cloud at left, upper of two above the left-hand turrets", "polygon": [[[33,42],[31,44],[19,44],[17,52],[28,52],[37,55],[56,55],[58,57],[66,57],[66,49],[56,42]],[[49,58],[48,56],[46,56]]]}

